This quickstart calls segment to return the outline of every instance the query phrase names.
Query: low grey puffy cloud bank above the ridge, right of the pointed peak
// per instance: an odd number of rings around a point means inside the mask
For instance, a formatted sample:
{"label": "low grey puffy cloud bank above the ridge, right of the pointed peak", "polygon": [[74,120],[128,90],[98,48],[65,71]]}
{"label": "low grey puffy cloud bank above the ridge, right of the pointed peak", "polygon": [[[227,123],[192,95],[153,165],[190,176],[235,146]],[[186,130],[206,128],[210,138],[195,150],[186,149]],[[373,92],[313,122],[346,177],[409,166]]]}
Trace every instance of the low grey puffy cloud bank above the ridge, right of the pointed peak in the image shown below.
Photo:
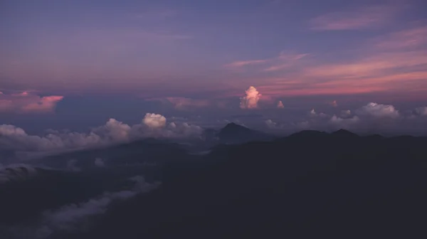
{"label": "low grey puffy cloud bank above the ridge, right of the pointed peak", "polygon": [[413,134],[427,135],[427,107],[401,112],[393,105],[370,102],[356,110],[342,110],[327,115],[315,109],[307,112],[307,118],[299,122],[265,121],[270,129],[315,129],[334,131],[348,129],[359,134]]}

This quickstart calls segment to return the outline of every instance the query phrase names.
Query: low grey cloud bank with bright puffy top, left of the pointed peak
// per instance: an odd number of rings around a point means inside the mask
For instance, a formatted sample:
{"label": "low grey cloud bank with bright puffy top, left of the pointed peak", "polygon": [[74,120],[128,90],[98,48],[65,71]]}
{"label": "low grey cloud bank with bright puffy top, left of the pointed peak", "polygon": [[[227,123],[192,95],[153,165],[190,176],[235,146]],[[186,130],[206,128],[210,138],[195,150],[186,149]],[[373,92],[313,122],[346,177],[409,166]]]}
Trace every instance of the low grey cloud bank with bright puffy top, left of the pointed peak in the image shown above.
{"label": "low grey cloud bank with bright puffy top, left of the pointed peak", "polygon": [[96,127],[88,133],[58,132],[44,136],[30,135],[25,130],[10,124],[0,125],[0,150],[56,151],[96,147],[120,142],[129,142],[146,137],[184,138],[200,137],[203,130],[186,122],[171,122],[162,115],[147,113],[141,124],[124,124],[109,119],[105,125]]}

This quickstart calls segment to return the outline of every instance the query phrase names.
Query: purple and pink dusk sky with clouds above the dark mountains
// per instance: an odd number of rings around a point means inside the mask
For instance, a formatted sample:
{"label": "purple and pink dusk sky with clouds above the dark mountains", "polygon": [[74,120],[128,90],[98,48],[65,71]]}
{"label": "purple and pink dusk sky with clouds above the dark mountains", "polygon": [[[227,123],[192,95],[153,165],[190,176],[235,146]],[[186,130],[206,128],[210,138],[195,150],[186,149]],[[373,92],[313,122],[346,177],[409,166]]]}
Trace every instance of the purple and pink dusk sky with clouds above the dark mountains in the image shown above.
{"label": "purple and pink dusk sky with clouds above the dark mountains", "polygon": [[164,117],[162,127],[423,133],[426,9],[421,0],[3,0],[0,134],[87,133],[147,114]]}

